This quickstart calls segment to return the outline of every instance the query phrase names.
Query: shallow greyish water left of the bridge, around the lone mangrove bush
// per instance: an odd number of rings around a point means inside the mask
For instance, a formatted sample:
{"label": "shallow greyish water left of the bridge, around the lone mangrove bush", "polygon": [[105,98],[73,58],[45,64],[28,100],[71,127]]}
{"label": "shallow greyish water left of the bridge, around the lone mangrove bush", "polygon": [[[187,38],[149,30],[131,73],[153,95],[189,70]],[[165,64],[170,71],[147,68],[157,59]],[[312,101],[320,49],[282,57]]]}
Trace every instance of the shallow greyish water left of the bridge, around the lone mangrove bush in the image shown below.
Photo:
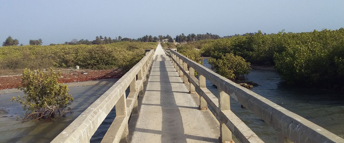
{"label": "shallow greyish water left of the bridge, around the lone mangrove bush", "polygon": [[[53,119],[49,123],[44,123],[43,120],[22,122],[20,119],[15,119],[17,116],[23,115],[24,111],[22,111],[19,103],[11,102],[10,98],[12,96],[23,95],[22,92],[0,95],[0,109],[7,111],[7,115],[13,115],[12,117],[0,118],[0,143],[51,142],[113,84],[114,83],[69,87],[69,94],[72,94],[74,98],[70,106],[74,113],[72,115],[67,113],[66,118]],[[114,108],[105,118],[90,141],[100,142],[115,117],[116,113]]]}

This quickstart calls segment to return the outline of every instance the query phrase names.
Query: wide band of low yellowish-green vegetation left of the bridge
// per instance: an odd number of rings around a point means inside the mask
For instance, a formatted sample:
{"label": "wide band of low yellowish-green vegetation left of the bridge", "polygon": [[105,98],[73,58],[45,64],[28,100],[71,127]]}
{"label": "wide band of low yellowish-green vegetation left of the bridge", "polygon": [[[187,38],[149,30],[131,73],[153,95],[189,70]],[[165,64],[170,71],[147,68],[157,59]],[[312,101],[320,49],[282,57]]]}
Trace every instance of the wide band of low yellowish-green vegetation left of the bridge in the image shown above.
{"label": "wide band of low yellowish-green vegetation left of the bridge", "polygon": [[128,71],[156,43],[118,42],[103,45],[4,46],[0,47],[0,69],[73,67]]}

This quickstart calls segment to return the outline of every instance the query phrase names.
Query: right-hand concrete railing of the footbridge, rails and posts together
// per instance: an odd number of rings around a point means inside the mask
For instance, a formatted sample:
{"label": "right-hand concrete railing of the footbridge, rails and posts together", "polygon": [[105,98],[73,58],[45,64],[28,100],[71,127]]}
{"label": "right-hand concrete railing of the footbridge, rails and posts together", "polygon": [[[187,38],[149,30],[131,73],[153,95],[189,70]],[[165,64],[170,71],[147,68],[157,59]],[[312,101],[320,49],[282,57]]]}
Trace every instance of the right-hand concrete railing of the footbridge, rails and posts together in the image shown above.
{"label": "right-hand concrete railing of the footbridge, rails and posts together", "polygon": [[[193,93],[197,90],[200,93],[200,108],[207,109],[208,104],[219,116],[220,139],[223,142],[231,142],[233,133],[241,143],[263,143],[230,110],[229,97],[232,97],[273,127],[277,131],[278,143],[344,143],[344,139],[339,136],[224,78],[180,53],[171,49],[167,49],[166,53],[170,56],[180,76],[184,77],[184,83],[190,82],[190,92]],[[195,71],[198,73],[198,79],[194,75]],[[219,98],[206,88],[205,79],[217,86]]]}

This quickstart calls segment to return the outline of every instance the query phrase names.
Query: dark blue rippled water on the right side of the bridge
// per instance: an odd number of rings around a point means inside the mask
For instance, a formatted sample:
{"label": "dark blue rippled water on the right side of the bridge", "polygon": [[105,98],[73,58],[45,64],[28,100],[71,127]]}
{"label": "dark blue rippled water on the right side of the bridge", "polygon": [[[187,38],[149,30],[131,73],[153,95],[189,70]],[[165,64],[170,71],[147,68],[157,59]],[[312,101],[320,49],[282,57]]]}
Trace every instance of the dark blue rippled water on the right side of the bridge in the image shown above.
{"label": "dark blue rippled water on the right side of the bridge", "polygon": [[[204,59],[204,67],[211,69],[211,65],[207,62],[208,60]],[[260,85],[252,88],[251,91],[341,138],[344,137],[344,98],[340,94],[322,89],[289,86],[281,80],[277,72],[271,70],[253,69],[247,78],[248,81]],[[206,86],[217,96],[217,89],[208,80]],[[277,132],[272,127],[248,109],[241,108],[241,105],[232,98],[230,104],[231,110],[264,142],[277,142]]]}

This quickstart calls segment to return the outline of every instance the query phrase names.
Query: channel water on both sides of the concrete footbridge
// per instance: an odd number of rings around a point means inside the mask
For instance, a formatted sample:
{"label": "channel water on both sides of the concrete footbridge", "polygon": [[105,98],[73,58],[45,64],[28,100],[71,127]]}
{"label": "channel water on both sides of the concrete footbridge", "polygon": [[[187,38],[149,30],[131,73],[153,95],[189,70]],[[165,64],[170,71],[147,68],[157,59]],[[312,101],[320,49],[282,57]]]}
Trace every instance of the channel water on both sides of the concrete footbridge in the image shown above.
{"label": "channel water on both sides of the concrete footbridge", "polygon": [[[203,65],[210,69],[211,65],[207,61],[204,59]],[[248,81],[254,81],[260,85],[252,88],[253,92],[341,138],[344,137],[344,98],[341,95],[328,90],[288,86],[281,80],[277,72],[271,70],[253,69],[247,78]],[[9,99],[12,96],[22,95],[22,93],[0,94],[0,109],[13,115],[13,117],[0,118],[0,143],[50,142],[112,84],[71,87],[70,94],[74,95],[75,99],[72,104],[74,114],[50,123],[43,123],[43,121],[23,123],[20,119],[15,119],[24,112],[19,103],[10,102]],[[206,85],[214,95],[217,95],[217,89],[211,82],[207,81]],[[246,108],[241,108],[241,105],[234,99],[231,99],[230,103],[231,110],[263,141],[266,143],[277,142],[277,132],[272,127]],[[112,110],[93,135],[91,143],[101,141],[115,116],[115,110]]]}

